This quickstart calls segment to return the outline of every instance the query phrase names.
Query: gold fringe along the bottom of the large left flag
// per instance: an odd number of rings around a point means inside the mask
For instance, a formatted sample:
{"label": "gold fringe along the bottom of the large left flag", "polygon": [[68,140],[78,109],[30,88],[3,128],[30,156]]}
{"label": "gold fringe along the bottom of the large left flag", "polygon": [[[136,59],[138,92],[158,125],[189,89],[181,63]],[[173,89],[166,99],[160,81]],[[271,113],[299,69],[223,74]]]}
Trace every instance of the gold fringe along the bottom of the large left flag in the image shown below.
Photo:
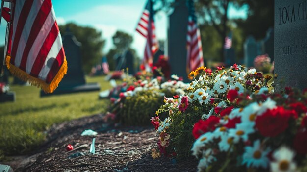
{"label": "gold fringe along the bottom of the large left flag", "polygon": [[19,79],[29,82],[31,85],[37,86],[37,88],[41,88],[45,93],[53,93],[53,91],[57,88],[59,85],[60,81],[64,77],[64,75],[67,73],[67,61],[66,57],[64,56],[64,62],[60,68],[60,70],[57,72],[53,80],[51,81],[50,84],[47,84],[45,81],[33,77],[29,74],[27,74],[25,71],[17,68],[16,66],[12,65],[10,63],[11,56],[6,55],[6,66],[7,69],[13,74],[14,76],[18,77]]}

